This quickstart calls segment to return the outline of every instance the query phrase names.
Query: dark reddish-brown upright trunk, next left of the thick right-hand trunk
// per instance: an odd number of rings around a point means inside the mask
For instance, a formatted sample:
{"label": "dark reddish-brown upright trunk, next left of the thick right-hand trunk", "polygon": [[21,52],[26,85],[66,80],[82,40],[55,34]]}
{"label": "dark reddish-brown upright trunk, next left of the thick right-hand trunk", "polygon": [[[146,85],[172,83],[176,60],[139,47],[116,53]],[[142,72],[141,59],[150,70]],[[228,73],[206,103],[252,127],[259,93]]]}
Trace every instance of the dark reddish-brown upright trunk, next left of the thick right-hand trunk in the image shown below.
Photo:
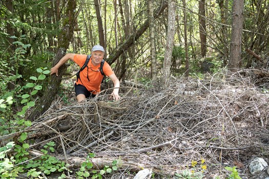
{"label": "dark reddish-brown upright trunk, next left of the thick right-hand trunk", "polygon": [[201,40],[201,55],[206,55],[206,26],[205,26],[205,0],[199,1],[199,34]]}

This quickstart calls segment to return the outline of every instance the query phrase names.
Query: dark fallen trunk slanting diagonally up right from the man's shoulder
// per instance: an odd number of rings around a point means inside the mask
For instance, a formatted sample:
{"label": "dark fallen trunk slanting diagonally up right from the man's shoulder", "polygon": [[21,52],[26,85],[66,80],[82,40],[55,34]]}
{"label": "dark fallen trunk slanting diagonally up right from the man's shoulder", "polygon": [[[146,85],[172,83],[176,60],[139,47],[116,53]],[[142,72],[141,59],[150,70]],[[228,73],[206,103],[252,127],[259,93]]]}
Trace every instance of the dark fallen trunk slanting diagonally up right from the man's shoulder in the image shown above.
{"label": "dark fallen trunk slanting diagonally up right from the man's shoulder", "polygon": [[[158,15],[160,15],[165,8],[167,8],[168,4],[163,3],[161,6],[154,11],[154,18],[156,18]],[[116,59],[126,50],[128,50],[133,43],[149,28],[150,22],[149,19],[146,20],[146,22],[141,25],[140,29],[138,29],[136,32],[133,32],[132,35],[130,35],[125,42],[119,44],[117,48],[113,50],[109,58],[107,59],[107,62],[109,64],[112,64],[116,61]]]}

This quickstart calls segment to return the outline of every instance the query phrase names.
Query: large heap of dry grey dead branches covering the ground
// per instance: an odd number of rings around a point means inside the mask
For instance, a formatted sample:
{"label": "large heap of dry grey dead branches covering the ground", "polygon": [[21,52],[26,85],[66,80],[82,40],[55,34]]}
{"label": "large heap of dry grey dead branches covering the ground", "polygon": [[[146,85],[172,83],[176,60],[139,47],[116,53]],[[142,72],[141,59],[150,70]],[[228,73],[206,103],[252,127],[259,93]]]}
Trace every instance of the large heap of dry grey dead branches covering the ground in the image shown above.
{"label": "large heap of dry grey dead branches covering the ground", "polygon": [[109,99],[111,89],[80,104],[73,94],[69,104],[56,100],[33,122],[30,148],[54,141],[54,155],[74,169],[88,153],[98,169],[117,160],[117,170],[103,178],[133,178],[141,169],[154,178],[187,170],[226,178],[226,166],[236,166],[241,178],[267,176],[251,174],[249,164],[255,156],[269,163],[268,76],[242,70],[175,79],[166,89],[133,84],[122,84],[119,101]]}

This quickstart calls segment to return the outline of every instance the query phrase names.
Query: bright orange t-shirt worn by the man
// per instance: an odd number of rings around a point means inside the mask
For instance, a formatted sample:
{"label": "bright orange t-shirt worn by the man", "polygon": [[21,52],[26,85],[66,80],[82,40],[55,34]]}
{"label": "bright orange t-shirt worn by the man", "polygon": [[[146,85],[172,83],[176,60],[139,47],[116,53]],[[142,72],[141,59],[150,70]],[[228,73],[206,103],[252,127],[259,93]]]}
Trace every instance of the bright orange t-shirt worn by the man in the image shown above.
{"label": "bright orange t-shirt worn by the man", "polygon": [[[82,65],[84,65],[85,61],[87,59],[87,55],[80,55],[76,54],[74,56],[74,62],[77,63],[80,68]],[[81,84],[84,85],[88,91],[92,92],[92,94],[96,95],[97,93],[100,92],[100,86],[101,82],[104,76],[102,76],[99,68],[100,64],[97,66],[94,66],[92,64],[92,57],[89,60],[88,67],[84,70],[82,70],[79,74],[80,78],[77,80],[76,84]],[[105,61],[104,66],[103,66],[103,72],[106,76],[110,76],[114,74],[113,70],[111,69],[110,65]],[[88,73],[88,78],[87,78],[87,73]]]}

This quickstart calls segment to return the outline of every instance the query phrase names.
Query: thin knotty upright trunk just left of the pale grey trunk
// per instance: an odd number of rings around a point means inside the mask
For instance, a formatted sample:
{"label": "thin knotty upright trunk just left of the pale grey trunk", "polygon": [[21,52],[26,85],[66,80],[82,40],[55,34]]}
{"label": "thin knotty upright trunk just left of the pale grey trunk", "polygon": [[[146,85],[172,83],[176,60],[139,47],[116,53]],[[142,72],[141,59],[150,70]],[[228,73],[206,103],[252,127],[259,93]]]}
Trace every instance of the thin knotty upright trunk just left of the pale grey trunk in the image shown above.
{"label": "thin knotty upright trunk just left of the pale grey trunk", "polygon": [[156,47],[155,47],[155,18],[153,14],[153,0],[148,2],[148,18],[150,20],[150,48],[151,48],[151,79],[153,83],[157,78],[157,62],[156,62]]}

